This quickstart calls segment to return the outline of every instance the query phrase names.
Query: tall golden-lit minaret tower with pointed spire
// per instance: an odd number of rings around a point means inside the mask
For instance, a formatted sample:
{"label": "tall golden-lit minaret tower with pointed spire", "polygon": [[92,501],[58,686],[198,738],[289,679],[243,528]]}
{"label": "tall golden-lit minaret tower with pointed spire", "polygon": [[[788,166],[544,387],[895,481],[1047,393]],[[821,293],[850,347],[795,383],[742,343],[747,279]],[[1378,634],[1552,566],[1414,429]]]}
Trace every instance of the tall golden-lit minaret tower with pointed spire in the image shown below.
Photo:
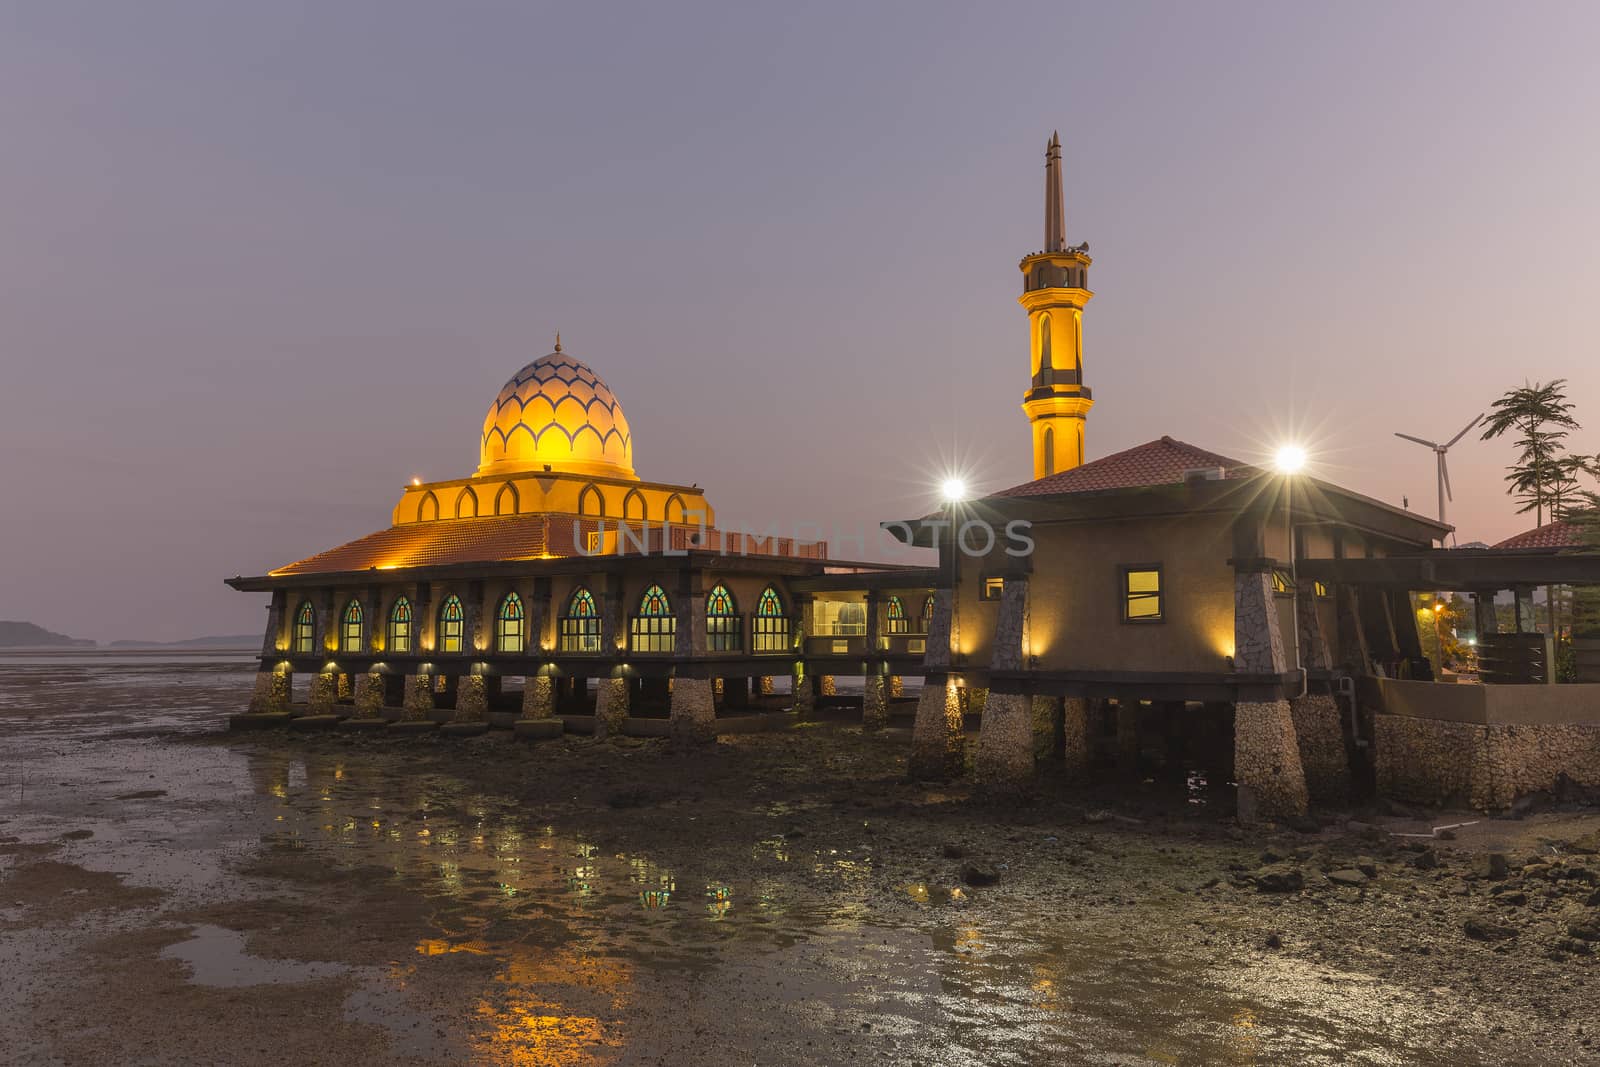
{"label": "tall golden-lit minaret tower with pointed spire", "polygon": [[1034,384],[1022,411],[1034,432],[1034,477],[1043,478],[1083,462],[1083,422],[1094,406],[1083,384],[1083,306],[1094,296],[1090,246],[1067,248],[1061,208],[1061,134],[1045,149],[1045,251],[1024,256],[1022,296],[1027,312]]}

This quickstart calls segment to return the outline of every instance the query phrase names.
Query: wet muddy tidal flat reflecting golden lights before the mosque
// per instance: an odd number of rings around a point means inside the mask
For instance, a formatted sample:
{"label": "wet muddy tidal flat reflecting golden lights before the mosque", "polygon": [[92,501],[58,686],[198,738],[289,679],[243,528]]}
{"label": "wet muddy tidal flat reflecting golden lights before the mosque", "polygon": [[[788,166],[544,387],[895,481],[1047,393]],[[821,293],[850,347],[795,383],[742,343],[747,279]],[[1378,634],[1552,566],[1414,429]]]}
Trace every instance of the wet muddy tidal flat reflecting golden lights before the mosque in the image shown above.
{"label": "wet muddy tidal flat reflecting golden lights before the mosque", "polygon": [[248,672],[0,661],[0,1062],[1600,1062],[1594,813],[1246,833],[843,721],[224,734]]}

